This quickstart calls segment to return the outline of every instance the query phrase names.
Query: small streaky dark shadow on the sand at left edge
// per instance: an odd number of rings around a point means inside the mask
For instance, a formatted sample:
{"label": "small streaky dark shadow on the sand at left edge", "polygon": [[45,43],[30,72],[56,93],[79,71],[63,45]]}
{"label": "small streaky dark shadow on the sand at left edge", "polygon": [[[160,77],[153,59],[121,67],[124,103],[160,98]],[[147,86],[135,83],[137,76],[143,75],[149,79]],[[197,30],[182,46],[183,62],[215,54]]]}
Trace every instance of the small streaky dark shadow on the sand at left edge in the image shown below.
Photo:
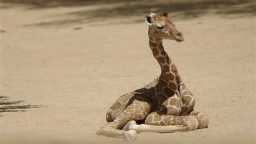
{"label": "small streaky dark shadow on the sand at left edge", "polygon": [[41,105],[22,105],[23,102],[24,100],[9,100],[9,97],[0,96],[0,113],[26,112],[29,108],[42,107]]}

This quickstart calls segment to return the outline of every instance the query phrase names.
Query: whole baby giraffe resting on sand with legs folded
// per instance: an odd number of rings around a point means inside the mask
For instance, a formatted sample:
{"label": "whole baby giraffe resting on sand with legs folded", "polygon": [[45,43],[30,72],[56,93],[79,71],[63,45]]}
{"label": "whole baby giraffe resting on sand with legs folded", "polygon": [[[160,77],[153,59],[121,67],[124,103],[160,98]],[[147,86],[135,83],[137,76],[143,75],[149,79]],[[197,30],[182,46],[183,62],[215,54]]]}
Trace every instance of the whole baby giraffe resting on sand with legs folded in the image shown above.
{"label": "whole baby giraffe resting on sand with legs folded", "polygon": [[136,140],[140,132],[172,133],[207,128],[208,115],[194,111],[195,99],[164,50],[163,39],[184,40],[167,15],[166,12],[145,15],[149,46],[160,65],[160,76],[122,95],[107,111],[107,123],[97,131],[98,135]]}

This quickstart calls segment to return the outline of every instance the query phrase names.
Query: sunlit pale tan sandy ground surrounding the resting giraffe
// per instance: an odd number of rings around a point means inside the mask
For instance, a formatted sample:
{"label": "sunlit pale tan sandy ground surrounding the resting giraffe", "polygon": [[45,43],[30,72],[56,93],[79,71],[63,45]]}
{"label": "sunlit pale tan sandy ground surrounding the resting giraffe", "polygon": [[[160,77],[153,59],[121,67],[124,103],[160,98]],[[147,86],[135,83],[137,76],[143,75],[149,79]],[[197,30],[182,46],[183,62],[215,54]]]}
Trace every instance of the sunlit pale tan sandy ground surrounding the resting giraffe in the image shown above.
{"label": "sunlit pale tan sandy ground surrounding the resting giraffe", "polygon": [[[80,22],[67,14],[96,8],[1,4],[0,94],[8,97],[2,101],[18,101],[0,105],[3,141],[122,142],[96,135],[107,109],[160,68],[143,15]],[[137,142],[255,142],[255,17],[210,11],[174,22],[185,41],[165,40],[165,49],[210,125],[140,133]]]}

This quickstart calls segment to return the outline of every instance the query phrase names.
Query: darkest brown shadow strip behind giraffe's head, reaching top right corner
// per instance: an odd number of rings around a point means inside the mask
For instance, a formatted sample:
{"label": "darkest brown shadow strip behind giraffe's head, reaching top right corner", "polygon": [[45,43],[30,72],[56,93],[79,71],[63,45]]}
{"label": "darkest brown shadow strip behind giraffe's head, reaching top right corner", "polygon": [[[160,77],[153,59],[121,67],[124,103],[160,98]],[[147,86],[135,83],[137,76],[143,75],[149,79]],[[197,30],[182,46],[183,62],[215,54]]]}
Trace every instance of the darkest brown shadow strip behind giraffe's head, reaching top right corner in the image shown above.
{"label": "darkest brown shadow strip behind giraffe's head, reaching top right corner", "polygon": [[[242,4],[250,4],[250,6],[243,6]],[[240,8],[240,9],[238,9]],[[201,2],[165,2],[165,3],[150,3],[150,2],[136,2],[125,3],[116,8],[102,8],[91,11],[77,11],[70,13],[75,16],[85,16],[88,19],[97,18],[114,18],[114,17],[129,17],[129,16],[143,16],[144,13],[149,12],[170,12],[171,17],[179,19],[187,19],[199,17],[208,10],[217,10],[217,13],[231,14],[240,13],[255,13],[255,5],[250,1],[201,1]],[[177,13],[172,15],[172,13]]]}

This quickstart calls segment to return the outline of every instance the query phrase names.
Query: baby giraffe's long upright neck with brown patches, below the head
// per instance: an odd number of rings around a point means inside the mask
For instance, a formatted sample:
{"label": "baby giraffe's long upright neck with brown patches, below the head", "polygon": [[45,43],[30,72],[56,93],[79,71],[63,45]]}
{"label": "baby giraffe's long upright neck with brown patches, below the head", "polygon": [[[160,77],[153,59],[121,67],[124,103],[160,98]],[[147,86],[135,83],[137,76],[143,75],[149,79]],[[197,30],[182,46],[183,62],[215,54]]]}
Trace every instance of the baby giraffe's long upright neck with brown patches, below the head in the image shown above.
{"label": "baby giraffe's long upright neck with brown patches, below the head", "polygon": [[154,37],[149,31],[149,45],[154,58],[157,59],[161,67],[159,82],[162,85],[167,85],[171,90],[177,91],[178,86],[181,84],[181,79],[176,65],[164,50],[163,39]]}

